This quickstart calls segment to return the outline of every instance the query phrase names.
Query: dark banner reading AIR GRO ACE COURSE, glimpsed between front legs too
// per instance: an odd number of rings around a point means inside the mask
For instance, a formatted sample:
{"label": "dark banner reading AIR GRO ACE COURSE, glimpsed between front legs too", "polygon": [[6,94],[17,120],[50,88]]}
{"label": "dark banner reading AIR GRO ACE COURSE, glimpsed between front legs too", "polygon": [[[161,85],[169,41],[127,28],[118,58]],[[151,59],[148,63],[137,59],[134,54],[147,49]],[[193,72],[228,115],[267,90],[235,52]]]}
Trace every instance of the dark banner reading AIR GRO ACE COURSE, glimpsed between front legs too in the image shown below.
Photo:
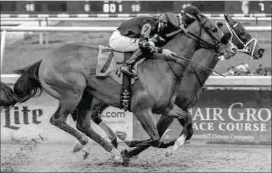
{"label": "dark banner reading AIR GRO ACE COURSE, glimpsed between front legs too", "polygon": [[[189,112],[194,130],[191,141],[271,144],[269,90],[203,90],[199,102]],[[159,116],[154,118],[158,120]],[[134,127],[134,137],[149,139],[136,118]],[[163,137],[177,139],[181,131],[182,126],[175,120]]]}

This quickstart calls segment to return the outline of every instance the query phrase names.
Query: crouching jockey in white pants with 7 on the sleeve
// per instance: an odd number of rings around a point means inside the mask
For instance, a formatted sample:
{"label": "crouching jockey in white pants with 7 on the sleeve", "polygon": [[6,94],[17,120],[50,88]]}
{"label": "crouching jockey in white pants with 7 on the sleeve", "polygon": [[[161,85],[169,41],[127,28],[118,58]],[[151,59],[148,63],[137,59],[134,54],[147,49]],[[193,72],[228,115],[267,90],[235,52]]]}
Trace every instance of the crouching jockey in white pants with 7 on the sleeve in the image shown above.
{"label": "crouching jockey in white pants with 7 on the sleeve", "polygon": [[109,46],[119,52],[135,53],[121,66],[121,71],[130,76],[137,76],[130,71],[130,66],[142,58],[142,53],[162,53],[171,56],[168,49],[158,48],[155,43],[164,41],[160,34],[168,29],[178,29],[179,19],[173,13],[163,13],[158,17],[138,16],[122,22],[109,39]]}

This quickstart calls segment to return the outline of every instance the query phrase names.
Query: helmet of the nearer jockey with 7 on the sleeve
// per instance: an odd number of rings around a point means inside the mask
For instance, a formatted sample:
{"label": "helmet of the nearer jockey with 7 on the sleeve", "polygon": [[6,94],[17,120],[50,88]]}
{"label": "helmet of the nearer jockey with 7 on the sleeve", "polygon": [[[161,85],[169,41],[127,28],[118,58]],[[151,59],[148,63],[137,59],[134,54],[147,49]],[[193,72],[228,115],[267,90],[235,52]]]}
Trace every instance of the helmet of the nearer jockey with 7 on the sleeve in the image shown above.
{"label": "helmet of the nearer jockey with 7 on the sleeve", "polygon": [[178,28],[179,27],[179,17],[173,13],[163,13],[158,16],[160,21],[161,30],[166,28]]}

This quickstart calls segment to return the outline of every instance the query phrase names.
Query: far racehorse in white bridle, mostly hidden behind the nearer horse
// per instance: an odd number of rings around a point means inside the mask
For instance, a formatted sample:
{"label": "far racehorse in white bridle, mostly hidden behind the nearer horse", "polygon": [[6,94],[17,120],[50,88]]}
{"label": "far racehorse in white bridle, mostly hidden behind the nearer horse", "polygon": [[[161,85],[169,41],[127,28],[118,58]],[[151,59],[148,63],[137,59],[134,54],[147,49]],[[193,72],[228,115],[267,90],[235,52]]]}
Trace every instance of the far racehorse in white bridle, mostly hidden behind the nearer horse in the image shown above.
{"label": "far racehorse in white bridle, mostly hidden behind the nearer horse", "polygon": [[[250,57],[252,57],[254,60],[259,60],[259,58],[264,55],[264,48],[259,46],[257,39],[254,39],[243,27],[243,25],[240,24],[240,22],[233,20],[229,15],[224,15],[224,18],[224,23],[217,24],[222,32],[224,34],[231,33],[231,42],[238,47],[240,52],[250,55]],[[219,62],[218,57],[219,55],[212,53],[210,50],[200,49],[194,53],[192,60],[203,64],[205,67],[214,69],[217,62]],[[211,72],[209,70],[190,63],[189,67],[186,69],[182,83],[180,83],[177,87],[179,95],[177,95],[175,105],[188,113],[188,109],[193,107],[196,102],[198,102],[202,89],[205,87],[205,81],[207,81],[210,74]],[[100,103],[100,105],[100,112],[104,111],[104,109],[108,107],[107,104]],[[95,122],[102,121],[101,118],[95,114],[95,112],[93,113],[92,117],[94,120],[96,120]],[[162,115],[160,117],[156,126],[160,137],[163,136],[165,130],[168,129],[173,120],[174,118],[169,116]],[[183,127],[186,125],[186,123],[188,123],[183,119],[178,120]],[[189,140],[189,137],[187,137],[186,140]],[[175,141],[170,141],[168,144],[161,144],[160,147],[166,148],[170,146],[168,148],[167,155],[171,155],[174,151],[174,147],[171,146],[175,145]],[[140,146],[133,148],[131,151],[125,150],[124,153],[127,158],[132,158],[132,156],[138,155],[147,148],[149,148],[149,146]],[[84,154],[86,155],[88,153]]]}

